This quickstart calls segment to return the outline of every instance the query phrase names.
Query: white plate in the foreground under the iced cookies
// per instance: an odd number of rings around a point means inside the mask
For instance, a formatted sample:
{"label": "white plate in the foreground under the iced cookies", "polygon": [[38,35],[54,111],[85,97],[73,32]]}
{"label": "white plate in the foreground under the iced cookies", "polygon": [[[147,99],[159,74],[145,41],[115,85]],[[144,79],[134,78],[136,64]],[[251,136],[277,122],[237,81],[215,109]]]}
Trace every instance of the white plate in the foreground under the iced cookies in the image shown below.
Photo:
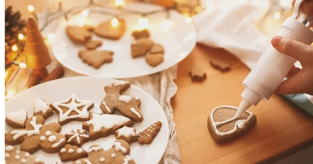
{"label": "white plate in the foreground under the iced cookies", "polygon": [[[103,87],[114,81],[114,79],[86,76],[62,78],[59,80],[45,82],[43,84],[39,84],[38,86],[31,87],[30,89],[27,89],[6,101],[5,116],[7,116],[10,112],[18,111],[21,108],[27,111],[28,117],[33,116],[36,98],[43,98],[48,102],[48,104],[50,104],[64,100],[72,93],[75,93],[80,99],[92,100],[95,102],[95,107],[93,107],[90,112],[102,113],[99,107],[99,103],[105,97],[105,91]],[[162,122],[160,132],[150,145],[140,145],[138,142],[131,144],[130,156],[134,158],[137,164],[152,164],[159,162],[165,152],[169,135],[167,119],[163,109],[153,97],[136,86],[132,85],[129,89],[123,92],[123,94],[132,97],[139,96],[141,99],[141,106],[139,109],[141,110],[144,119],[142,122],[134,122],[133,127],[137,129],[137,132],[144,130],[153,122]],[[115,114],[117,113],[118,112],[115,112]],[[120,115],[120,113],[118,114]],[[45,121],[45,124],[50,122],[58,122],[58,116],[59,115],[54,112],[54,114]],[[69,122],[62,126],[62,131],[60,133],[65,134],[66,132],[71,131],[73,128],[81,129],[82,122]],[[9,132],[11,130],[13,130],[13,128],[6,124],[5,132]],[[99,144],[102,145],[105,149],[109,149],[115,139],[115,135],[112,134],[108,137],[102,137],[95,141],[86,142],[83,144],[82,148],[88,150],[91,145]],[[19,145],[17,147],[19,147]],[[49,154],[39,150],[34,153],[34,155],[47,164],[54,161],[62,163],[58,153]],[[63,163],[66,164],[72,162]]]}

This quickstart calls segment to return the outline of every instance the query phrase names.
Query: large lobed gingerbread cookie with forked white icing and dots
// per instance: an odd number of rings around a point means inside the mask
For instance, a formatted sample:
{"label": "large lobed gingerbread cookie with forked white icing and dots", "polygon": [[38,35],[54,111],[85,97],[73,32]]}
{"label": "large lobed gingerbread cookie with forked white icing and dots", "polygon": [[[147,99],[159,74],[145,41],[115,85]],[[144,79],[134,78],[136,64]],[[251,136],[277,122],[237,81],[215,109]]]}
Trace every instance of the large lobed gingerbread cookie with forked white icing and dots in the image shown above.
{"label": "large lobed gingerbread cookie with forked white icing and dots", "polygon": [[26,121],[25,129],[14,129],[5,134],[5,143],[21,144],[21,150],[29,153],[42,149],[47,153],[56,153],[65,143],[66,138],[60,134],[59,123],[44,125],[44,117],[32,116]]}

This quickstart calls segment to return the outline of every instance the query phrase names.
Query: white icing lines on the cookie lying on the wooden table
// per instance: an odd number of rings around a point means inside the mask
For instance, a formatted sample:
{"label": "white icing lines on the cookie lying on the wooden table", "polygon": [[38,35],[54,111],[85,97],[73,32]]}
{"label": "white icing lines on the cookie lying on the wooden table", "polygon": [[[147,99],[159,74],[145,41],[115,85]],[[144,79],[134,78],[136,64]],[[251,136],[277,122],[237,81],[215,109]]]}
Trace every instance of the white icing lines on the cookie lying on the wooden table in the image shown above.
{"label": "white icing lines on the cookie lying on the wooden table", "polygon": [[217,126],[219,126],[219,125],[221,125],[221,124],[225,124],[225,123],[227,123],[227,122],[231,122],[231,121],[233,121],[233,120],[236,119],[236,117],[234,116],[234,117],[232,117],[232,118],[230,118],[230,119],[228,119],[228,120],[222,121],[222,122],[214,122],[214,121],[213,121],[213,113],[214,113],[215,110],[217,110],[217,109],[219,109],[219,108],[231,108],[231,109],[236,109],[236,110],[238,110],[237,107],[234,107],[234,106],[227,106],[227,105],[223,105],[223,106],[220,106],[220,107],[215,107],[215,108],[212,110],[212,112],[211,112],[211,114],[210,114],[210,118],[211,118],[212,125],[213,125],[213,127],[214,127],[214,129],[215,129],[215,133],[216,133],[218,136],[225,136],[225,135],[233,134],[234,132],[237,131],[237,126],[238,126],[239,122],[243,122],[244,124],[246,124],[246,123],[248,123],[248,122],[250,121],[250,119],[253,117],[253,113],[251,113],[251,112],[249,112],[249,111],[245,111],[246,113],[250,114],[249,117],[248,117],[246,120],[238,120],[238,121],[235,123],[235,127],[234,127],[232,130],[228,131],[228,132],[219,132],[219,131],[217,130]]}

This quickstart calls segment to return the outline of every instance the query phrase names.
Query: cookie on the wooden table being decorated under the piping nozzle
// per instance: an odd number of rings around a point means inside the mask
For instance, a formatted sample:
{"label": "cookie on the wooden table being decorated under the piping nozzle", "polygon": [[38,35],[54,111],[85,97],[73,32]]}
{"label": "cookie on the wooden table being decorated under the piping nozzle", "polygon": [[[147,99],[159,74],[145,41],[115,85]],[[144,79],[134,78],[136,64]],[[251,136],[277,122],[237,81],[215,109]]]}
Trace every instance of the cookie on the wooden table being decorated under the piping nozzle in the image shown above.
{"label": "cookie on the wooden table being decorated under the piping nozzle", "polygon": [[215,142],[228,142],[244,135],[256,124],[256,115],[245,111],[235,117],[238,108],[234,106],[215,107],[208,117],[208,130]]}

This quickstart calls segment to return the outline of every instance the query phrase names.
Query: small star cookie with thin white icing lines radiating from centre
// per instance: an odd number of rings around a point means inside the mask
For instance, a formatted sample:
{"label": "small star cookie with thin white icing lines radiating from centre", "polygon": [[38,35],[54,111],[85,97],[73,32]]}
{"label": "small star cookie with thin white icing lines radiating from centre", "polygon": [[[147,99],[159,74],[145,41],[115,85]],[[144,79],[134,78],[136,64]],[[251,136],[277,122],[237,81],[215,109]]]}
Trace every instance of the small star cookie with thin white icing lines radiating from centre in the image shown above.
{"label": "small star cookie with thin white icing lines radiating from centre", "polygon": [[85,142],[89,141],[89,136],[87,135],[86,130],[80,130],[74,128],[71,132],[67,132],[65,134],[67,139],[67,143],[71,145],[75,145],[77,147],[81,147],[81,145]]}

